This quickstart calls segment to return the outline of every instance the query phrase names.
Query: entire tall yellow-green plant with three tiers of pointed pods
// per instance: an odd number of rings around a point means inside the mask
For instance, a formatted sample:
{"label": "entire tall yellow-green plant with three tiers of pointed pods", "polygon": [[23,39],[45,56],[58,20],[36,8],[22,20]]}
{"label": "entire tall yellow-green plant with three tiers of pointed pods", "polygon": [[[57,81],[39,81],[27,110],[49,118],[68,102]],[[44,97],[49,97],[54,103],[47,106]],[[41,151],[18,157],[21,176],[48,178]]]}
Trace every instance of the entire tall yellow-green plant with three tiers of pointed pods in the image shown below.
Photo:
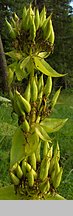
{"label": "entire tall yellow-green plant with three tiers of pointed pods", "polygon": [[[57,194],[63,168],[60,148],[54,150],[51,133],[58,131],[67,119],[51,118],[61,88],[53,97],[52,77],[62,77],[44,59],[54,48],[52,14],[47,17],[45,6],[24,7],[22,19],[13,14],[6,19],[12,38],[8,65],[9,95],[18,127],[12,138],[10,177],[14,189],[27,199],[62,199]],[[43,77],[44,76],[44,77]]]}

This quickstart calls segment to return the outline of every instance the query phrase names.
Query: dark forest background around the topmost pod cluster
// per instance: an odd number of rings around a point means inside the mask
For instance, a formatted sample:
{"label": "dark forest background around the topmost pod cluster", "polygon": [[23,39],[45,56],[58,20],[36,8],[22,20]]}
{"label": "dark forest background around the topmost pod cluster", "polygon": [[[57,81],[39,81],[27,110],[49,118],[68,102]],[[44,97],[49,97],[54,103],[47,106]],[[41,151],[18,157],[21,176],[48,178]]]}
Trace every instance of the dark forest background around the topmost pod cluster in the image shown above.
{"label": "dark forest background around the topmost pod cluster", "polygon": [[[10,21],[12,13],[16,11],[18,16],[22,16],[24,5],[33,3],[41,10],[45,4],[48,15],[53,13],[53,25],[55,31],[55,45],[53,54],[47,59],[48,62],[60,73],[67,73],[62,79],[54,80],[54,87],[60,85],[63,88],[73,87],[73,15],[70,0],[0,0],[0,29],[4,46],[4,51],[11,49],[11,39],[5,24],[5,17]],[[7,59],[8,61],[8,59]]]}

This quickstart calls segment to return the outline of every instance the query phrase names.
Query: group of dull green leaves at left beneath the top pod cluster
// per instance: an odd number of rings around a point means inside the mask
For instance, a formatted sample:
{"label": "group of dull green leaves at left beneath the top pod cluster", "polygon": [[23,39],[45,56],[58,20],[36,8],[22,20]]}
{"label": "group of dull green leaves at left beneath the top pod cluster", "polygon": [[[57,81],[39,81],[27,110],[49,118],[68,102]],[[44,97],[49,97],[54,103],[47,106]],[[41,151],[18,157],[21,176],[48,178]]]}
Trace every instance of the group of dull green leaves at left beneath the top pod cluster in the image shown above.
{"label": "group of dull green leaves at left beneath the top pod cluster", "polygon": [[[16,53],[14,51],[11,51],[7,53],[11,58],[15,60],[14,63],[10,64],[8,66],[8,84],[11,85],[14,73],[16,75],[16,78],[18,81],[22,81],[24,78],[27,78],[28,74],[32,73],[34,70],[34,63],[30,56],[23,57],[22,60],[20,60],[21,54]],[[20,60],[20,61],[18,61]],[[31,67],[30,67],[31,65]]]}

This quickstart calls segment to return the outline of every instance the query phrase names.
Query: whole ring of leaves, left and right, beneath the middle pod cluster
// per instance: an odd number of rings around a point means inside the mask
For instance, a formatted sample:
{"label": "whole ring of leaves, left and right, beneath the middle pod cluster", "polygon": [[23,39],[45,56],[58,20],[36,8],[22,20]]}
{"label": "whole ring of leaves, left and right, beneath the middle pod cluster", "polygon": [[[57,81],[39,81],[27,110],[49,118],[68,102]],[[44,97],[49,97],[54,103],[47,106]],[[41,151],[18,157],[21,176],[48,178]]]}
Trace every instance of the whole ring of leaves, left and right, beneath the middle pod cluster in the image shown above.
{"label": "whole ring of leaves, left and right, beneath the middle pod cluster", "polygon": [[33,125],[26,138],[22,130],[17,128],[12,139],[10,166],[12,167],[16,162],[20,162],[23,158],[36,152],[39,146],[39,138],[51,143],[51,138],[48,133],[58,131],[64,126],[67,120],[68,119],[45,118],[40,124]]}

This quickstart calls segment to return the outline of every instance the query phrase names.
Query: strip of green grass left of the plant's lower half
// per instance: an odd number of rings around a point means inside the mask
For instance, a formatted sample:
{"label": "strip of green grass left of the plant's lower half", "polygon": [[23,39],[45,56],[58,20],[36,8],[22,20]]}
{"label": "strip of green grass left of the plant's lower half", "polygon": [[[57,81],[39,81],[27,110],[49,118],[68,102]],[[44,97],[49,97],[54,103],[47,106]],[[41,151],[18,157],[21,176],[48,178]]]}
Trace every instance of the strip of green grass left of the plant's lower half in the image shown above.
{"label": "strip of green grass left of the plant's lower half", "polygon": [[12,136],[17,126],[17,116],[11,117],[12,107],[0,106],[0,187],[10,183],[9,159]]}

